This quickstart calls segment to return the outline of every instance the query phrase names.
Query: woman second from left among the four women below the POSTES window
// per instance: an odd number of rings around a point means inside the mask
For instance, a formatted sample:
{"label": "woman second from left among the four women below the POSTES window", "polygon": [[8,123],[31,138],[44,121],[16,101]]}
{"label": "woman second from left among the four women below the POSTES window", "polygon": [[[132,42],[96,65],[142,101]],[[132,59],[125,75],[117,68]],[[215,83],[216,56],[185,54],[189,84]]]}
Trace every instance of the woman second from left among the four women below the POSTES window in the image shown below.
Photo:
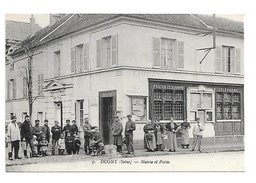
{"label": "woman second from left among the four women below the POSTES window", "polygon": [[160,124],[159,120],[156,120],[154,123],[154,130],[155,130],[155,136],[156,136],[156,150],[157,151],[163,151],[164,147],[164,140],[163,140],[163,134],[164,134],[164,128]]}

